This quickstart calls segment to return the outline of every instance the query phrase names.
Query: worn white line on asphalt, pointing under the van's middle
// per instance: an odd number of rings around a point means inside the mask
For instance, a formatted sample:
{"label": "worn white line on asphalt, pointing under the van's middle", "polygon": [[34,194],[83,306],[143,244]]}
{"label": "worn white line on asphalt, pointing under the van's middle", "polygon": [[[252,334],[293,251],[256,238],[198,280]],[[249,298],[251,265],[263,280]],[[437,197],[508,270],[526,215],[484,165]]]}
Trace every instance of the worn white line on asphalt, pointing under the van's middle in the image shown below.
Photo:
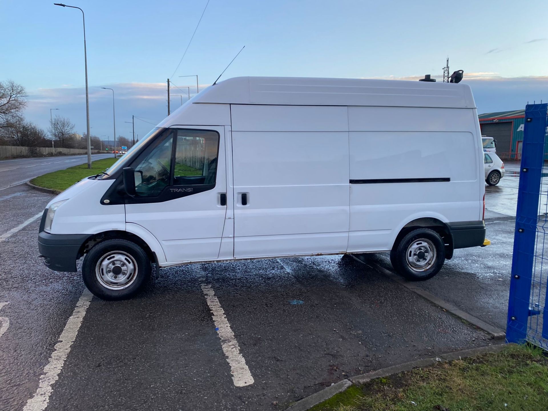
{"label": "worn white line on asphalt, pointing under the van's middle", "polygon": [[237,387],[252,385],[255,381],[246,365],[246,360],[239,351],[238,341],[226,319],[225,311],[222,309],[219,299],[211,288],[211,284],[201,284],[202,291],[206,296],[207,305],[213,315],[213,321],[217,334],[221,339],[222,351],[226,355],[226,361],[230,364],[232,381]]}

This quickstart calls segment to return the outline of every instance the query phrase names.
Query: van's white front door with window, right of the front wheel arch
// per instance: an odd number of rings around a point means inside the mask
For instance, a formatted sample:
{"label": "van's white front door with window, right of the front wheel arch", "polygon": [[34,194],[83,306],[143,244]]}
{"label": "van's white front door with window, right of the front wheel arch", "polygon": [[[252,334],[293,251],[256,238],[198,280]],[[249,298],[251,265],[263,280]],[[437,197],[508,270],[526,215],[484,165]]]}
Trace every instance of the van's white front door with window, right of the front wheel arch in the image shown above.
{"label": "van's white front door with window, right of the front wheel arch", "polygon": [[125,219],[161,244],[167,262],[214,260],[226,215],[224,127],[167,128],[132,163]]}

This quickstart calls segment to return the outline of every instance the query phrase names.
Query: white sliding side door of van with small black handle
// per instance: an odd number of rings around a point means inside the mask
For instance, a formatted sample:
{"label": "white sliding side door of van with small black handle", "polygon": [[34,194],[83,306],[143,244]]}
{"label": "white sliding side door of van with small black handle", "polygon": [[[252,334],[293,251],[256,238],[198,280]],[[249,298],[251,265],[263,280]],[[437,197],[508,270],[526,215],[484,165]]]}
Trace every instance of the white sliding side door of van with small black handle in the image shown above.
{"label": "white sliding side door of van with small black handle", "polygon": [[345,252],[346,107],[231,111],[235,258]]}

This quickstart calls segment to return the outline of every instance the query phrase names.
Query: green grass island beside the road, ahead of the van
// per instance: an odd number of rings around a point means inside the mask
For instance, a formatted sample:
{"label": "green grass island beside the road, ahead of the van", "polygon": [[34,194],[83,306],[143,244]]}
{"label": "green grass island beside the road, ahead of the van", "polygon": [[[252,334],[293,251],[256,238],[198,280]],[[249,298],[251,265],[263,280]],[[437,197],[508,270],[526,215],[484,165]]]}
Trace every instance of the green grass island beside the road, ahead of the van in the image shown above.
{"label": "green grass island beside the road, ahead of the van", "polygon": [[116,160],[117,158],[102,158],[92,162],[91,169],[89,169],[88,164],[85,163],[53,173],[44,174],[32,179],[31,184],[39,187],[45,187],[46,189],[63,191],[75,184],[75,182],[80,181],[87,176],[104,171],[114,164]]}

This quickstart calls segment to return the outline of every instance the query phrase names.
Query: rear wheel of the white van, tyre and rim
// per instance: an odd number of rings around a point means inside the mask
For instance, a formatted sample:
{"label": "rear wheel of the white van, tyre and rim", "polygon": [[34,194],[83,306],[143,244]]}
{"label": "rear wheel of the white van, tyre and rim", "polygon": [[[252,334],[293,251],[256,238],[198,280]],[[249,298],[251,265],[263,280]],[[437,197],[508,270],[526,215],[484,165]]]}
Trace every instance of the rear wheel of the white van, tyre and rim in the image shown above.
{"label": "rear wheel of the white van, tyre and rim", "polygon": [[445,261],[443,239],[430,229],[410,231],[394,244],[390,261],[396,272],[410,281],[432,278]]}

